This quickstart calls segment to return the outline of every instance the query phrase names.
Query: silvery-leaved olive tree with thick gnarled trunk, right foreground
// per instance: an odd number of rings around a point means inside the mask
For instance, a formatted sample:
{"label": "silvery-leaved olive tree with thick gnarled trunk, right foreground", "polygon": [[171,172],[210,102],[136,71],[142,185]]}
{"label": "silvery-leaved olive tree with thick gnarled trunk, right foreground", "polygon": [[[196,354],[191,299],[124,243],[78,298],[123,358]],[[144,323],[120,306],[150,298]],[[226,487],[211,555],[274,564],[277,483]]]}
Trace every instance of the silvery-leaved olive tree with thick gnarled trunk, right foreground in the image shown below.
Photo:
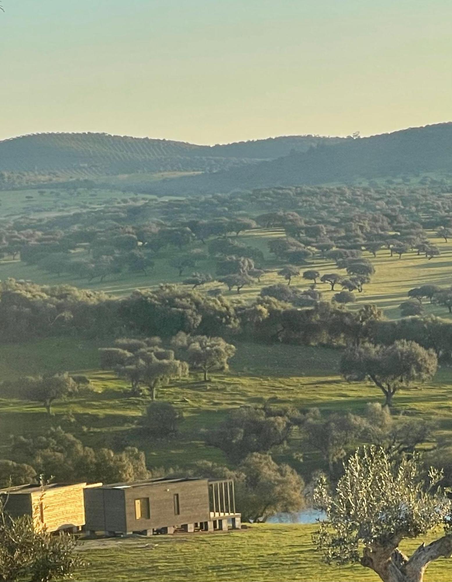
{"label": "silvery-leaved olive tree with thick gnarled trunk, right foreground", "polygon": [[[426,471],[421,458],[391,456],[376,446],[357,450],[335,488],[322,478],[314,490],[327,520],[313,535],[325,562],[358,563],[383,582],[422,582],[433,560],[452,555],[451,502],[437,485],[442,472]],[[444,526],[442,537],[422,543],[410,558],[404,539]]]}

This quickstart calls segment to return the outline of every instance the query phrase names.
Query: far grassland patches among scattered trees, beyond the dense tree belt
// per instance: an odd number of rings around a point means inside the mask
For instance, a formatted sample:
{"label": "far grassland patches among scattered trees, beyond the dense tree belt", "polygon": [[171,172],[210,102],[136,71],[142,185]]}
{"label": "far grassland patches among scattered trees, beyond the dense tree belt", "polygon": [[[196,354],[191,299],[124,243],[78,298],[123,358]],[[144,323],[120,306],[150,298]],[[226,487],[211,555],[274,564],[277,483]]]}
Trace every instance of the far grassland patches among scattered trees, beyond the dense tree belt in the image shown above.
{"label": "far grassland patches among scattered trees, beyond the dense tree belt", "polygon": [[[356,293],[357,300],[351,308],[359,307],[363,303],[375,303],[385,311],[386,317],[391,319],[398,318],[400,317],[398,307],[402,301],[408,299],[407,292],[412,287],[425,285],[426,283],[433,283],[443,288],[449,287],[452,284],[452,240],[445,243],[443,239],[435,238],[432,232],[429,235],[432,244],[436,244],[441,251],[440,256],[433,258],[431,261],[426,259],[424,255],[418,256],[417,251],[404,254],[400,259],[396,256],[390,257],[388,250],[378,251],[376,258],[365,251],[363,255],[374,264],[375,275],[372,276],[371,282],[364,286],[363,293]],[[275,261],[273,255],[268,252],[267,244],[268,240],[281,236],[284,236],[282,230],[259,229],[245,232],[238,237],[239,242],[249,244],[263,251],[266,261],[263,267],[270,271],[261,278],[260,283],[256,281],[252,286],[243,288],[240,295],[241,299],[253,299],[259,294],[263,286],[285,282],[284,279],[277,275],[281,264]],[[86,252],[84,250],[77,251],[77,257],[82,258]],[[125,294],[132,292],[134,289],[144,289],[160,285],[160,283],[181,283],[190,274],[190,270],[182,277],[178,276],[177,269],[169,264],[173,255],[174,251],[167,250],[156,253],[155,268],[148,275],[124,272],[120,275],[109,276],[102,283],[98,279],[87,282],[86,279],[76,279],[66,274],[61,276],[48,274],[35,265],[26,265],[19,260],[3,260],[0,261],[0,279],[13,277],[26,281],[31,280],[42,285],[69,283],[82,288],[104,290],[112,294]],[[308,268],[317,269],[321,275],[328,272],[345,274],[345,271],[338,271],[334,262],[321,259],[302,267],[302,271]],[[211,258],[201,261],[196,270],[210,273],[214,276],[215,261]],[[307,289],[309,284],[310,282],[304,281],[301,277],[294,278],[291,283],[295,289]],[[200,289],[208,290],[219,286],[221,286],[220,283],[212,282]],[[223,288],[225,296],[232,298],[236,296],[234,290],[229,292],[224,285],[221,288]],[[340,290],[338,287],[335,292],[331,292],[329,285],[325,283],[319,283],[317,288],[321,290],[324,299],[327,300],[331,299],[333,294]],[[425,314],[435,314],[445,318],[451,317],[445,307],[425,303],[424,308]]]}

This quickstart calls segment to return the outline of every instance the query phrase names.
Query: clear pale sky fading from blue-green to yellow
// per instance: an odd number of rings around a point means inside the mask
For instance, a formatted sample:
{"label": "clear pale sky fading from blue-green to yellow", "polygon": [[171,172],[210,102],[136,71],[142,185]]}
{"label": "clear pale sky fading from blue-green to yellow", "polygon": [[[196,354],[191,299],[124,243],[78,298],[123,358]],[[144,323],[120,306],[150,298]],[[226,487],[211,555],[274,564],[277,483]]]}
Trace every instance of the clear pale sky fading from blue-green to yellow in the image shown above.
{"label": "clear pale sky fading from blue-green to yellow", "polygon": [[450,0],[0,3],[0,139],[215,144],[452,120]]}

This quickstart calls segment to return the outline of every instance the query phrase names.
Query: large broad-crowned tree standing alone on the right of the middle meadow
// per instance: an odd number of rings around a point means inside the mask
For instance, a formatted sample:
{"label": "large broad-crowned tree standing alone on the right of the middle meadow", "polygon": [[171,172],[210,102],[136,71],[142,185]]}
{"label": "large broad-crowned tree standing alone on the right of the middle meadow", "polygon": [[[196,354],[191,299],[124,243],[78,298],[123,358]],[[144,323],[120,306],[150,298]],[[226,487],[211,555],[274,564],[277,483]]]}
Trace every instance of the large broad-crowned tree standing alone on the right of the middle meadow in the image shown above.
{"label": "large broad-crowned tree standing alone on the right of the middle meadow", "polygon": [[340,373],[349,382],[370,379],[386,396],[385,405],[391,406],[397,390],[431,379],[437,364],[432,349],[402,339],[390,346],[367,343],[351,347],[342,356]]}

